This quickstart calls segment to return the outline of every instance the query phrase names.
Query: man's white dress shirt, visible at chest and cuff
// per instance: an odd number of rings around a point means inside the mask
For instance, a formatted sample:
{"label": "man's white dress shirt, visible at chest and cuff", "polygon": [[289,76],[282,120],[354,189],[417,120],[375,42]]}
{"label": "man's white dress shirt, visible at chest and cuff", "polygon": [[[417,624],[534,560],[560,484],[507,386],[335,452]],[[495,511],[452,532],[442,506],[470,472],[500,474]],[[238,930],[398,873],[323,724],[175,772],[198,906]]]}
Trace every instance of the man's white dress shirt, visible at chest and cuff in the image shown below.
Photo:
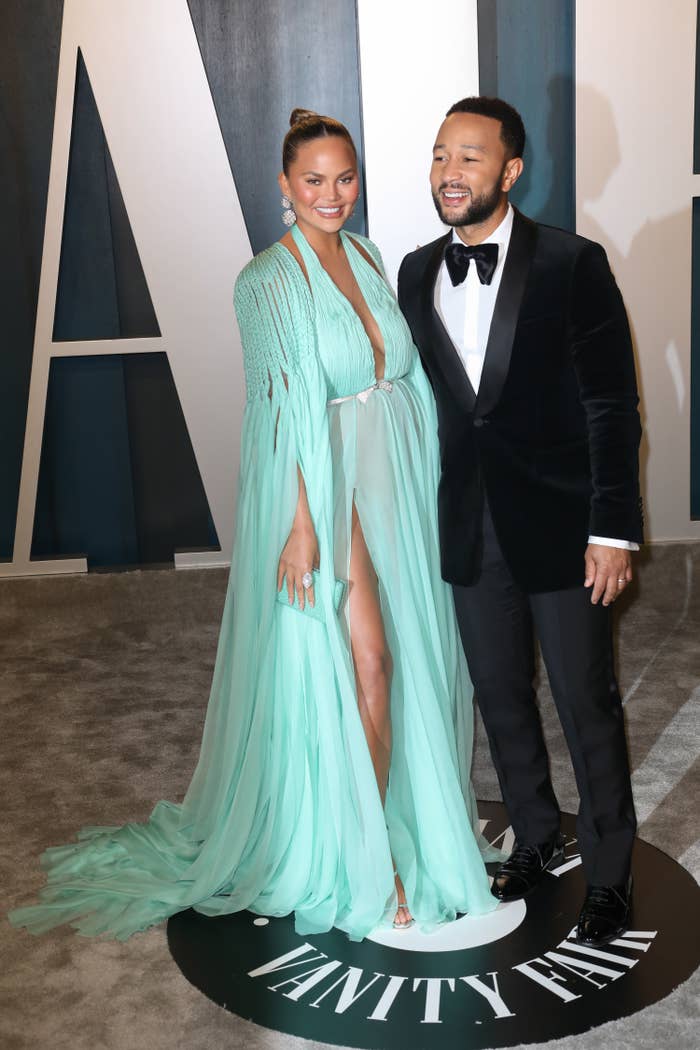
{"label": "man's white dress shirt, visible at chest and cuff", "polygon": [[[434,289],[436,310],[454,343],[474,393],[479,392],[493,308],[501,287],[512,229],[513,209],[509,204],[505,218],[488,238],[488,244],[499,246],[499,261],[490,285],[482,285],[473,262],[469,265],[467,276],[461,285],[452,285],[444,259],[438,271]],[[457,230],[452,230],[452,244],[462,244]],[[598,543],[606,547],[639,550],[639,544],[629,540],[611,540],[600,536],[590,536],[588,539],[589,543]]]}

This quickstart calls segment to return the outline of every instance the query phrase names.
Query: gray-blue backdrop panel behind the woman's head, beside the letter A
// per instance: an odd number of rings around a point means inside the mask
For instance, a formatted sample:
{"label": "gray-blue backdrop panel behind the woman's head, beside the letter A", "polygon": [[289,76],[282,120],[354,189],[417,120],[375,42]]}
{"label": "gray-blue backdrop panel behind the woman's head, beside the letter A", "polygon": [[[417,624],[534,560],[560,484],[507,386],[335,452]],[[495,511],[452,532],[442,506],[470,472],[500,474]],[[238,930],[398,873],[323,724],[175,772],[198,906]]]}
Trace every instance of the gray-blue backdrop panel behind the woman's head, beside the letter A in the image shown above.
{"label": "gray-blue backdrop panel behind the woman's head, beside the letter A", "polygon": [[[255,253],[278,240],[277,173],[292,110],[345,124],[362,164],[355,0],[189,0]],[[347,229],[365,232],[364,195]]]}

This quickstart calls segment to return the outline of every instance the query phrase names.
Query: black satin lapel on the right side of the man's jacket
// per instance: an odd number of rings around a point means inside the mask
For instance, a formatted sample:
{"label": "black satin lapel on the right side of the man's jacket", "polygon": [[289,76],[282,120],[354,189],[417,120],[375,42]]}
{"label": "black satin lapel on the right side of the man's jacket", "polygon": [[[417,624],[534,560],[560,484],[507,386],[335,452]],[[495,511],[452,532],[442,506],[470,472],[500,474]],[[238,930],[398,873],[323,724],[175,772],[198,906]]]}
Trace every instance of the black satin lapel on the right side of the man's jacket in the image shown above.
{"label": "black satin lapel on the right side of the man's jacket", "polygon": [[484,371],[479,384],[474,413],[478,417],[485,416],[493,408],[501,397],[508,375],[515,326],[521,312],[525,284],[530,272],[536,239],[536,224],[526,218],[519,211],[515,211],[508,255],[504,265],[486,344]]}

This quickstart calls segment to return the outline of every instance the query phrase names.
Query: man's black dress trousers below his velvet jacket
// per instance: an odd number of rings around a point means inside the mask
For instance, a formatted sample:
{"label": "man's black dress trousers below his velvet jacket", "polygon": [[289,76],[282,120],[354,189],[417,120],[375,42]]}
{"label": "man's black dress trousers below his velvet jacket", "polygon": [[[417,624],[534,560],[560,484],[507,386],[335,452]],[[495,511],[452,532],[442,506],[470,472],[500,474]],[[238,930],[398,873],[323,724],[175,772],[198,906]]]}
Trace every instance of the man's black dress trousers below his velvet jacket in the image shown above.
{"label": "man's black dress trousers below his velvet jacket", "polygon": [[[504,802],[519,843],[547,842],[559,808],[535,704],[534,633],[574,766],[577,835],[589,885],[627,881],[636,831],[611,610],[582,586],[527,594],[512,579],[488,510],[481,574],[454,604]],[[584,564],[581,560],[581,575]]]}

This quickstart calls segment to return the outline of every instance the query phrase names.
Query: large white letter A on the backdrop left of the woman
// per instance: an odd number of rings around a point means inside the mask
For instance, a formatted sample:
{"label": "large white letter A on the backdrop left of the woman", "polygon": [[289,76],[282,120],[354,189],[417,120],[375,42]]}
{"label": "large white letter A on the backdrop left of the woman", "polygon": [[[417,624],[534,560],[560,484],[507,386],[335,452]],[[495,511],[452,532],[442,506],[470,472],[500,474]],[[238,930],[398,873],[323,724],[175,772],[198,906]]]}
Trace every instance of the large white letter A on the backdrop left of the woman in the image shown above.
{"label": "large white letter A on the backdrop left of the woman", "polygon": [[[54,342],[76,63],[81,49],[162,336]],[[52,357],[166,352],[224,564],[243,401],[235,275],[251,257],[231,167],[186,0],[65,0],[46,226],[13,560],[0,575],[80,572],[84,559],[31,561]]]}

